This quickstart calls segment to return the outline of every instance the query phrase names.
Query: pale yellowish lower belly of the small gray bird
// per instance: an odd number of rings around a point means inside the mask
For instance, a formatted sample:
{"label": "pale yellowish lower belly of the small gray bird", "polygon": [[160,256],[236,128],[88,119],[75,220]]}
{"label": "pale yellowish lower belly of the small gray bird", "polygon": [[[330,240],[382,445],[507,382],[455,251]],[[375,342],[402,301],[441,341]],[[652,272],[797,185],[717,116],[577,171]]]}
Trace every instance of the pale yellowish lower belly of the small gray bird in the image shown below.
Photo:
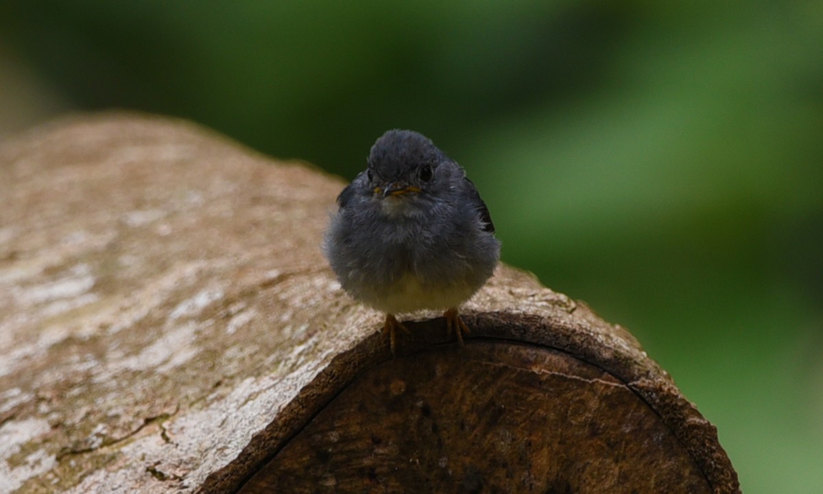
{"label": "pale yellowish lower belly of the small gray bird", "polygon": [[465,280],[449,283],[421,282],[413,273],[406,273],[397,281],[374,291],[364,293],[362,301],[388,314],[403,314],[417,310],[445,310],[467,301],[479,287]]}

